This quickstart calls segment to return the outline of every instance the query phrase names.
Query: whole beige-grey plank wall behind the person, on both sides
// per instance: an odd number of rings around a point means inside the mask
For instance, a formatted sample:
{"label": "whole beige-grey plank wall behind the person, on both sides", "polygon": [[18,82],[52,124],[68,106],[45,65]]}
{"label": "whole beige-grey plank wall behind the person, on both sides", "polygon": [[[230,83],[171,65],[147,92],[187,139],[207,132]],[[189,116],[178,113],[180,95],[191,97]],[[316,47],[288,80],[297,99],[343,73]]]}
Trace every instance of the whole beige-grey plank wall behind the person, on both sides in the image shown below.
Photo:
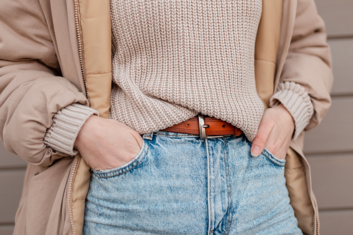
{"label": "whole beige-grey plank wall behind the person, on both sides", "polygon": [[[335,81],[332,107],[307,132],[321,235],[353,234],[353,0],[316,0],[327,25]],[[12,234],[26,163],[0,143],[0,235]]]}

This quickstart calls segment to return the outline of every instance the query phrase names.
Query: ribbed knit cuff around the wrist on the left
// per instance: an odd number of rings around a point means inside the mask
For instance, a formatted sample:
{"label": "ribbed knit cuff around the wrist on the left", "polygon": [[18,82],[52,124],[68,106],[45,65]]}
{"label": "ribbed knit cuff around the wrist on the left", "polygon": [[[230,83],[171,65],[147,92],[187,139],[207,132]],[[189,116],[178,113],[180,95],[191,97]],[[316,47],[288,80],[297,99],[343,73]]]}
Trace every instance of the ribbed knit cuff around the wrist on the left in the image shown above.
{"label": "ribbed knit cuff around the wrist on the left", "polygon": [[78,132],[91,115],[99,113],[90,107],[70,104],[60,109],[53,117],[53,124],[44,137],[46,146],[65,154],[76,155],[73,149]]}

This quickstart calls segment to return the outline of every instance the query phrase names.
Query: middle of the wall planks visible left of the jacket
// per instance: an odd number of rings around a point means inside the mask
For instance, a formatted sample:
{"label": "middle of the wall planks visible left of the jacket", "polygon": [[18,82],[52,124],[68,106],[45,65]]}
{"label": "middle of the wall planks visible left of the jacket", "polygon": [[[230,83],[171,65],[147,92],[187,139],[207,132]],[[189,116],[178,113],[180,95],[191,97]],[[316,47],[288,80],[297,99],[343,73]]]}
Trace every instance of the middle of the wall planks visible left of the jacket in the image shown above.
{"label": "middle of the wall planks visible left of the jacket", "polygon": [[14,223],[25,169],[0,171],[0,224]]}

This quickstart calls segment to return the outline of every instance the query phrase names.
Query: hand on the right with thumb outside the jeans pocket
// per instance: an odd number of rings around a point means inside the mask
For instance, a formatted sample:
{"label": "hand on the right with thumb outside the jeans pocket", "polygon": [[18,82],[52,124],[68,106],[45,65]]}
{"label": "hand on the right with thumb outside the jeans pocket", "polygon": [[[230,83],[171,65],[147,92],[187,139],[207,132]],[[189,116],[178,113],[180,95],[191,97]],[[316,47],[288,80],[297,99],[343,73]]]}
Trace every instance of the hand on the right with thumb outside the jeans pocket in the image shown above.
{"label": "hand on the right with thumb outside the jeans pocket", "polygon": [[267,148],[275,157],[285,159],[294,127],[292,115],[282,104],[265,110],[251,145],[251,155],[257,157]]}

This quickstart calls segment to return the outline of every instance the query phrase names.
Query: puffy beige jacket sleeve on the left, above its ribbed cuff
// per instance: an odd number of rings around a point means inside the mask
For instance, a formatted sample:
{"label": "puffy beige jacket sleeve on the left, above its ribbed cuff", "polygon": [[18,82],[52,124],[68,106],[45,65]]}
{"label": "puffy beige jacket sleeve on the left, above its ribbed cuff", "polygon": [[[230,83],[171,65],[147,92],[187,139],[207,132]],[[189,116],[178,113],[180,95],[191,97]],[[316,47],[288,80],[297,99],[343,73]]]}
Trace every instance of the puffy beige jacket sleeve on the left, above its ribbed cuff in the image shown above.
{"label": "puffy beige jacket sleeve on the left, above its ribbed cuff", "polygon": [[44,144],[61,108],[88,106],[85,94],[60,75],[38,1],[0,4],[0,138],[8,151],[36,166],[65,156]]}

